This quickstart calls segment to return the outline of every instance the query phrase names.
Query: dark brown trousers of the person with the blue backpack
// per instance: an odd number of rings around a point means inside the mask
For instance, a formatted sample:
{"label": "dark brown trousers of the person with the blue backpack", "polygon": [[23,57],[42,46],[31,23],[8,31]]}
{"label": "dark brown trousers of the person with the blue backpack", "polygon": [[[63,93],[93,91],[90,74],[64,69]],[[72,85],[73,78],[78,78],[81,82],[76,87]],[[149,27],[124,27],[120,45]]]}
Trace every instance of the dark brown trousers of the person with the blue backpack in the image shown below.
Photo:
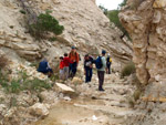
{"label": "dark brown trousers of the person with the blue backpack", "polygon": [[97,71],[97,76],[98,76],[98,90],[103,88],[104,74],[105,74],[105,71]]}

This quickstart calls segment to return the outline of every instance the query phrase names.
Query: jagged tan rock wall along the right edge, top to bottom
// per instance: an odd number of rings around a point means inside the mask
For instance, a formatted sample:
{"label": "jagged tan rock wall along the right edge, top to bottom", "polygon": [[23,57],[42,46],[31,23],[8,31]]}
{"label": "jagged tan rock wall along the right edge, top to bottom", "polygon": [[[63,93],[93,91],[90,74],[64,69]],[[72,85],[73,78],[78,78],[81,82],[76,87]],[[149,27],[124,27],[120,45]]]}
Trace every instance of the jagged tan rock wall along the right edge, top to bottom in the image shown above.
{"label": "jagged tan rock wall along the right edge, top to bottom", "polygon": [[138,102],[142,114],[128,118],[135,125],[165,124],[166,108],[166,0],[128,0],[120,13],[133,39],[137,77],[146,85]]}

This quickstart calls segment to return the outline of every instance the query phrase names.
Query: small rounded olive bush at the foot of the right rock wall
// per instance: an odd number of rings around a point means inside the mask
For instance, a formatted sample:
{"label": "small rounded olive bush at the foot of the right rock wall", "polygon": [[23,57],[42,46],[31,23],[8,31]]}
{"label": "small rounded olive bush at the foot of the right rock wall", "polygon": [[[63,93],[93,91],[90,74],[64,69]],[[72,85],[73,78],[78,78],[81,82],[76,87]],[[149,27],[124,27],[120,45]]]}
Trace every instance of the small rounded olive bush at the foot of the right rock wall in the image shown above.
{"label": "small rounded olive bush at the foot of the right rock wall", "polygon": [[125,65],[121,72],[121,76],[128,76],[131,74],[135,73],[135,65],[133,62],[128,63],[127,65]]}

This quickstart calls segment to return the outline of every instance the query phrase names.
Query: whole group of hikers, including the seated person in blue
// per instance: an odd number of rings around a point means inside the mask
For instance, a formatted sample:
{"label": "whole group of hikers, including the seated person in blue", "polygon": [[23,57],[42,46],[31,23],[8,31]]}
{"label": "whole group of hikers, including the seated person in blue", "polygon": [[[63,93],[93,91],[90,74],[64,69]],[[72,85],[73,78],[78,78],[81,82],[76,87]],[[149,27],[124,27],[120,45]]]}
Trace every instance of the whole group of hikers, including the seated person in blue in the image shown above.
{"label": "whole group of hikers, including the seated person in blue", "polygon": [[[76,48],[72,46],[71,52],[64,53],[63,56],[60,56],[60,79],[68,80],[69,77],[73,79],[77,71],[79,62],[81,61],[80,54],[76,52]],[[97,77],[98,77],[98,91],[104,91],[104,74],[111,74],[111,64],[112,58],[107,54],[106,51],[102,51],[102,55],[94,59],[90,54],[85,54],[84,56],[84,74],[85,74],[85,83],[91,82],[93,75],[93,64],[95,64],[97,69]],[[49,65],[46,59],[42,60],[39,64],[38,71],[51,76],[53,74],[52,69]]]}

